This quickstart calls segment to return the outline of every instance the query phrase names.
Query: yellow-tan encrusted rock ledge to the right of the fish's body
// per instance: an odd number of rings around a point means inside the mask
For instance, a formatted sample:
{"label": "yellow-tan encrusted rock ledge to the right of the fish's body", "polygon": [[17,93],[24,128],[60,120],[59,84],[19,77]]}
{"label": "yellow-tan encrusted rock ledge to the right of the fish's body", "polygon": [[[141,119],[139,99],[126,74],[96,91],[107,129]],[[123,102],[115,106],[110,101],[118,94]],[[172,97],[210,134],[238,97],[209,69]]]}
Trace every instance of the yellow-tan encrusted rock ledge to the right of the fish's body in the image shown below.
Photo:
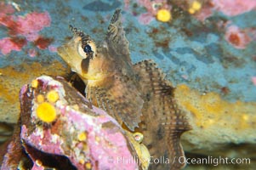
{"label": "yellow-tan encrusted rock ledge to the right of the fish's body", "polygon": [[255,102],[230,102],[219,94],[202,94],[185,84],[180,84],[174,93],[193,128],[182,135],[186,151],[211,156],[255,157],[247,147],[238,149],[242,144],[255,147]]}

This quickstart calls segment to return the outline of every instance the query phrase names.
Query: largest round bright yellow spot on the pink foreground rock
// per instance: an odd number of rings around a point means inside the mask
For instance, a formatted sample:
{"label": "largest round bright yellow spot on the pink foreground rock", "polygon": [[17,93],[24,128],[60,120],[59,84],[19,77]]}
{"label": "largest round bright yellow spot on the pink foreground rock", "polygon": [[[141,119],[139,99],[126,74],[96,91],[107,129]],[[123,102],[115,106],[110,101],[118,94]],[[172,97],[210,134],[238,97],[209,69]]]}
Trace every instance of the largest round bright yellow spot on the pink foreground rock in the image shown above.
{"label": "largest round bright yellow spot on the pink foreground rock", "polygon": [[43,102],[37,106],[37,117],[43,122],[54,122],[56,119],[56,110],[53,105]]}

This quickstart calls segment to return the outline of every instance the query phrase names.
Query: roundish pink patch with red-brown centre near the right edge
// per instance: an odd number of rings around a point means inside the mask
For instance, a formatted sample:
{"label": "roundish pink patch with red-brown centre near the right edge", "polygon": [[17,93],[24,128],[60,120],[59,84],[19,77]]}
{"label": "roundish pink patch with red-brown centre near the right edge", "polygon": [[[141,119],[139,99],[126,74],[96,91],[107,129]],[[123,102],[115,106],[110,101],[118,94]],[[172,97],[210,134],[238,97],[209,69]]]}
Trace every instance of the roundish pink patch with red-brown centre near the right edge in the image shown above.
{"label": "roundish pink patch with red-brown centre near the right edge", "polygon": [[247,32],[242,31],[238,26],[229,26],[225,32],[225,40],[235,48],[244,49],[252,41]]}

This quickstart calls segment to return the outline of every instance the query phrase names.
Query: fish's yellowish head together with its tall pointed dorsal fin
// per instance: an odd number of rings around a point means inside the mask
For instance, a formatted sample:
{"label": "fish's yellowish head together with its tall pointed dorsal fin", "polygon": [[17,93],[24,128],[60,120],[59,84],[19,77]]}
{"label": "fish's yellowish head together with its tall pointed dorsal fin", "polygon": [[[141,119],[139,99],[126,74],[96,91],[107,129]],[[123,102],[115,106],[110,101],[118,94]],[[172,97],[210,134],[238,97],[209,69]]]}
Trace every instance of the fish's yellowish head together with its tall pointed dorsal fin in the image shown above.
{"label": "fish's yellowish head together with its tall pointed dorsal fin", "polygon": [[70,26],[70,30],[74,36],[58,48],[58,54],[83,82],[99,85],[109,83],[109,77],[115,74],[128,77],[134,74],[119,9],[111,19],[105,39],[98,44],[77,28]]}

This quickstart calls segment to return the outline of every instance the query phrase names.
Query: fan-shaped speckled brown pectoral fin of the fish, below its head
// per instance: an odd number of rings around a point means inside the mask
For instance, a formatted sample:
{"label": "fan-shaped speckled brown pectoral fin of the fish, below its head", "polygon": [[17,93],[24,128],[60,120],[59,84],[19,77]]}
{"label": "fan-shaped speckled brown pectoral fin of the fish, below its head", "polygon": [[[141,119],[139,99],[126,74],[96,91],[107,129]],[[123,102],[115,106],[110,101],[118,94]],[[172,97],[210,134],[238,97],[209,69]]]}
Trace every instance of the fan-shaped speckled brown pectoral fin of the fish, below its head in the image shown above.
{"label": "fan-shaped speckled brown pectoral fin of the fish, below its head", "polygon": [[87,98],[134,131],[134,127],[139,125],[144,101],[133,80],[124,76],[114,78],[115,81],[110,88],[88,87]]}

